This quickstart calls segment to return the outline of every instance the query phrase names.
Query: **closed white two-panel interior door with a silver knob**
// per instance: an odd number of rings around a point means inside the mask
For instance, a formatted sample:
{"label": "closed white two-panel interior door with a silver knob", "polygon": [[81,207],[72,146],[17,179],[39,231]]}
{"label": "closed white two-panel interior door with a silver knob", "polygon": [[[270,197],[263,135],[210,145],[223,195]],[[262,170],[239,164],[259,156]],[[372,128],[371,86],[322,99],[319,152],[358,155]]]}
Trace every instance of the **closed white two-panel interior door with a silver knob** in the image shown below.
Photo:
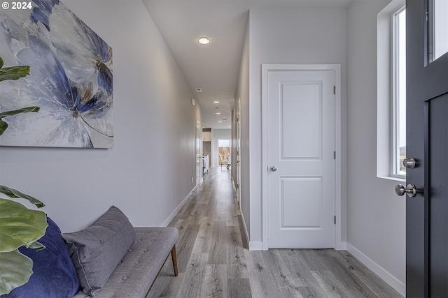
{"label": "closed white two-panel interior door with a silver knob", "polygon": [[335,71],[267,74],[269,247],[335,247]]}

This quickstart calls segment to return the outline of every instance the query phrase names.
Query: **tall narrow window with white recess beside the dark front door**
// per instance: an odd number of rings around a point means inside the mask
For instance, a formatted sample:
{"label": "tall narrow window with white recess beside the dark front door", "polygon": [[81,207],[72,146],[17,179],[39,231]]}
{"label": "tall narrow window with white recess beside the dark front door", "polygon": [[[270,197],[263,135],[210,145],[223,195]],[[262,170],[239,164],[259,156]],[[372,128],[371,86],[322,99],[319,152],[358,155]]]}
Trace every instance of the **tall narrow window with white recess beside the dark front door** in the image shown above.
{"label": "tall narrow window with white recess beside the dark front door", "polygon": [[405,180],[405,156],[406,9],[393,0],[377,15],[377,177]]}

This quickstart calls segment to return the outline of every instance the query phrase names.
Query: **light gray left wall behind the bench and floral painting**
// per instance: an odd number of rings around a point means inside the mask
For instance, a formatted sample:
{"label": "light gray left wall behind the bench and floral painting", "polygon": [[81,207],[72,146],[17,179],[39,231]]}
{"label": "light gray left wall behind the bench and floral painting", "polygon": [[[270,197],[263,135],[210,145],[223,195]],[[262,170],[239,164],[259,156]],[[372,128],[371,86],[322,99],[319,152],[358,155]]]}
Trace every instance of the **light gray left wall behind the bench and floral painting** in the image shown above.
{"label": "light gray left wall behind the bench and floral painting", "polygon": [[1,147],[1,184],[45,202],[62,231],[111,204],[134,225],[166,224],[195,186],[200,107],[141,1],[64,3],[113,47],[114,147]]}

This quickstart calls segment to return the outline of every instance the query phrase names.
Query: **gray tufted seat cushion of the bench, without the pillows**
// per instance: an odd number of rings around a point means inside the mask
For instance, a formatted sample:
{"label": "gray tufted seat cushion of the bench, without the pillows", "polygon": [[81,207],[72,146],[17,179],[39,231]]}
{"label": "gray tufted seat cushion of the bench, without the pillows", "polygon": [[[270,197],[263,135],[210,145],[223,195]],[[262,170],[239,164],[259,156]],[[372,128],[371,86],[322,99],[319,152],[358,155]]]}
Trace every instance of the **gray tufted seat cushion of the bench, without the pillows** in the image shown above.
{"label": "gray tufted seat cushion of the bench, without the pillows", "polygon": [[[176,228],[134,228],[135,242],[95,298],[143,298],[179,238]],[[79,292],[76,298],[89,297]]]}

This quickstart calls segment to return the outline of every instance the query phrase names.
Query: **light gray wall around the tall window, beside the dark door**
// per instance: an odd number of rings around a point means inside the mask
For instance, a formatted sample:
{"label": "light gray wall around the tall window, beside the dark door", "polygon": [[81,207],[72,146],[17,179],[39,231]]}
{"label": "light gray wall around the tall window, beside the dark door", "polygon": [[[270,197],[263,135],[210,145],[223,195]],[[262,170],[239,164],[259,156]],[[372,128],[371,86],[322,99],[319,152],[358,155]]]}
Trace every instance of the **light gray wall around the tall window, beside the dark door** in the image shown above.
{"label": "light gray wall around the tall window, beside the dark door", "polygon": [[376,165],[377,13],[388,2],[353,1],[347,10],[347,241],[404,294],[405,200],[394,193],[398,181],[377,178]]}

